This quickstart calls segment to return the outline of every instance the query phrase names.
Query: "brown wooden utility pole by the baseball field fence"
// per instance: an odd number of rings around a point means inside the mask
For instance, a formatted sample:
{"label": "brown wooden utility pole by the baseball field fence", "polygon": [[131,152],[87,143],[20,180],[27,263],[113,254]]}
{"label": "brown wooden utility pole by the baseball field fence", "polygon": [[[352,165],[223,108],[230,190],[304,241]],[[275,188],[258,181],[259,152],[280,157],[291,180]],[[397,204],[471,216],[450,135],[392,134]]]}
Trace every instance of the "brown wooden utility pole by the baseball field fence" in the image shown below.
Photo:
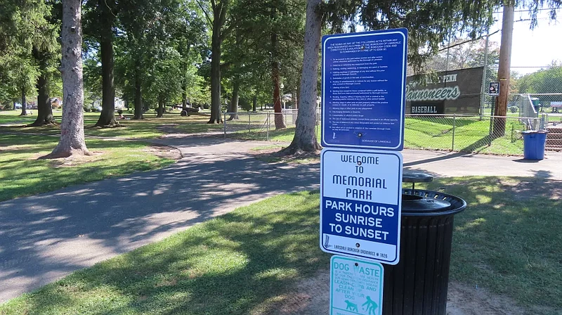
{"label": "brown wooden utility pole by the baseball field fence", "polygon": [[[507,115],[507,97],[509,94],[509,77],[511,72],[511,39],[514,34],[514,6],[504,6],[502,18],[502,44],[499,46],[499,69],[497,79],[499,81],[499,96],[496,98],[495,116]],[[494,119],[494,131],[492,136],[505,135],[505,118]]]}

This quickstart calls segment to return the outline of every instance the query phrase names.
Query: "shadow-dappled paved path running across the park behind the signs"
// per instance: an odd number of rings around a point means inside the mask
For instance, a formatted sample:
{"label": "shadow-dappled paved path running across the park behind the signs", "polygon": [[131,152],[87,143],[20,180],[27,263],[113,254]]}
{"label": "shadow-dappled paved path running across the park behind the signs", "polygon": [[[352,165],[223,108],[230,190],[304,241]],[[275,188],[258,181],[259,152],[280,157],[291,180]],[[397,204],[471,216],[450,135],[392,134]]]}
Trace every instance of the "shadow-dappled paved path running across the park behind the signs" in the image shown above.
{"label": "shadow-dappled paved path running across the park behind the signs", "polygon": [[[268,143],[168,138],[175,165],[0,203],[0,302],[77,269],[161,240],[278,193],[318,188],[319,165],[268,165],[248,154]],[[518,158],[405,150],[405,167],[436,176],[562,179],[561,154]]]}

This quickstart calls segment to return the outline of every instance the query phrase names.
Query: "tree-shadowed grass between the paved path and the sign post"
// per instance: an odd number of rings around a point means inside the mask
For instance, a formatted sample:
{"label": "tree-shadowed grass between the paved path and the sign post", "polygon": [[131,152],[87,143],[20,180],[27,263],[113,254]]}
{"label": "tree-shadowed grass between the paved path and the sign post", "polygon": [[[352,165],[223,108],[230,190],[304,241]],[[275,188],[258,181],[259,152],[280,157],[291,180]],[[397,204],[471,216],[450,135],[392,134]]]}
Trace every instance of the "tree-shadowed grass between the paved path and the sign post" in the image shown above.
{"label": "tree-shadowed grass between the paved path and the sign post", "polygon": [[[291,290],[329,255],[318,249],[318,192],[291,195],[208,221],[27,297],[31,314],[68,307],[88,314],[250,314]],[[264,211],[263,206],[268,210]],[[84,297],[115,295],[81,305]],[[93,302],[93,301],[92,301]],[[9,308],[8,308],[9,309]],[[103,309],[103,311],[101,311]]]}

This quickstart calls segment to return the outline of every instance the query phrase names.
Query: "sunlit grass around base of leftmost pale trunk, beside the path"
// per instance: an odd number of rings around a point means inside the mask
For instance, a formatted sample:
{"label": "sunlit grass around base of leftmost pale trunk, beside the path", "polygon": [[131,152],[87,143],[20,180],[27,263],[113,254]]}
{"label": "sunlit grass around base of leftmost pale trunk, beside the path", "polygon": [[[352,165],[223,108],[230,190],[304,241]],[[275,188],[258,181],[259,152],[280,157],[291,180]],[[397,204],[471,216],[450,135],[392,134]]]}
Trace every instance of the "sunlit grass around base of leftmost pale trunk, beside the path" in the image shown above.
{"label": "sunlit grass around base of leftmost pale trunk, beside the path", "polygon": [[99,139],[86,139],[92,156],[37,160],[50,153],[57,143],[55,136],[0,133],[0,201],[157,169],[174,162],[159,158],[147,143]]}

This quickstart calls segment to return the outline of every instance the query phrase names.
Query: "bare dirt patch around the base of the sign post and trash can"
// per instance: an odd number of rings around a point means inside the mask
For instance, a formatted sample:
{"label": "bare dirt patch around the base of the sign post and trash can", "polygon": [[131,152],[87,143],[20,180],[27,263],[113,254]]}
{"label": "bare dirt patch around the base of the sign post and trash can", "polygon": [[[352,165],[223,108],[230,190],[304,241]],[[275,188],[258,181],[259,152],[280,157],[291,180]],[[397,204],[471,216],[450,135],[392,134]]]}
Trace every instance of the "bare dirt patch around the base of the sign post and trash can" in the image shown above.
{"label": "bare dirt patch around the base of the sign post and trash can", "polygon": [[[536,311],[516,306],[508,297],[461,283],[449,284],[447,315],[523,315]],[[253,315],[329,314],[329,271],[296,285],[292,293],[274,297],[251,311]]]}

